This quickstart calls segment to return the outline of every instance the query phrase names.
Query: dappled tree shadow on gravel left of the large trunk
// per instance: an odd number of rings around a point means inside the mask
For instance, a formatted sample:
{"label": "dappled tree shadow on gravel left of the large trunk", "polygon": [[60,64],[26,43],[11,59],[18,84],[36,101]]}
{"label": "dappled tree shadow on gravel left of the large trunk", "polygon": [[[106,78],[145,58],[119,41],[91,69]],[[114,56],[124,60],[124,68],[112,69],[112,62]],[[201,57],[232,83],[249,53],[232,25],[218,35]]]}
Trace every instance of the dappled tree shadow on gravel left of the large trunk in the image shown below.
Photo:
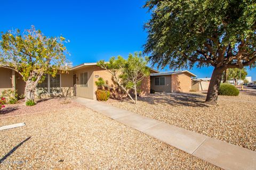
{"label": "dappled tree shadow on gravel left of the large trunk", "polygon": [[204,103],[205,96],[200,94],[171,94],[171,93],[156,93],[150,96],[139,98],[140,101],[145,101],[149,104],[162,104],[171,106],[192,106],[192,107],[209,107]]}

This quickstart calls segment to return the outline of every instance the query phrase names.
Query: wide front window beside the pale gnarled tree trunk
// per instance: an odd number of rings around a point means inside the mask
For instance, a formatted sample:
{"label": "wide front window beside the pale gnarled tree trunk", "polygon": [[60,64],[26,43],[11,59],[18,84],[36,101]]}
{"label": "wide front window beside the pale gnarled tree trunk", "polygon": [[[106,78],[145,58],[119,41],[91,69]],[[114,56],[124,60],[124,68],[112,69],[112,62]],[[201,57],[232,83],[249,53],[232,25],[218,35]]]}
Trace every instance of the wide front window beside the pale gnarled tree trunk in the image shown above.
{"label": "wide front window beside the pale gnarled tree trunk", "polygon": [[36,87],[36,93],[40,94],[59,94],[60,88],[60,74],[56,74],[55,77],[46,74],[44,81],[39,83]]}

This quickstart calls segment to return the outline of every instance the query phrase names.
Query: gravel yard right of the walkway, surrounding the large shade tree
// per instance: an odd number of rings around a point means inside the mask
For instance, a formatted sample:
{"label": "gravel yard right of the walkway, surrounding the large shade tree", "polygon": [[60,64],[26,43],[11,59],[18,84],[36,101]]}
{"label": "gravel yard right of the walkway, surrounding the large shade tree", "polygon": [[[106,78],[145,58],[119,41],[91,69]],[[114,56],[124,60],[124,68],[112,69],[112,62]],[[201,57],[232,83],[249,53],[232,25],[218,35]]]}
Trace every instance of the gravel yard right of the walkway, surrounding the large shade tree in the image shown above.
{"label": "gravel yard right of the walkway, surrounding the large shade tree", "polygon": [[108,100],[110,105],[154,118],[256,151],[256,94],[219,96],[218,105],[205,105],[206,94],[151,94],[138,104]]}

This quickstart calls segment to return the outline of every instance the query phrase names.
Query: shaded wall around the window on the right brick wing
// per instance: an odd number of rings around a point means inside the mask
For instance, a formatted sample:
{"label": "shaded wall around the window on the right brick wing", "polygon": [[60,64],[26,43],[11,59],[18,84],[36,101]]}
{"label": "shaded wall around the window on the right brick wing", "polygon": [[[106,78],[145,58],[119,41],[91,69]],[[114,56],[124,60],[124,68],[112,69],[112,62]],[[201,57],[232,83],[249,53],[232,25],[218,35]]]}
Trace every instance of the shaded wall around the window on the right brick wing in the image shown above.
{"label": "shaded wall around the window on the right brick wing", "polygon": [[[165,85],[155,85],[155,78],[165,77]],[[159,75],[150,78],[150,88],[156,92],[171,92],[171,75]]]}

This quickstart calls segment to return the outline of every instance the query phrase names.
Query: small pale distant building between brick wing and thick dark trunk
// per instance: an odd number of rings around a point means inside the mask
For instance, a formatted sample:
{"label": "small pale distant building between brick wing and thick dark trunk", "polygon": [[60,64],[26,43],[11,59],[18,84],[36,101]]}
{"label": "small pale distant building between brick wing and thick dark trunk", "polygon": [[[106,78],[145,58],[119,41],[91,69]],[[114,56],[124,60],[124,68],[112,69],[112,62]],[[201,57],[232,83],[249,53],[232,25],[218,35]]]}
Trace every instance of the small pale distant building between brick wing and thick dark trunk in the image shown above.
{"label": "small pale distant building between brick wing and thick dark trunk", "polygon": [[208,90],[211,78],[191,79],[191,90],[203,91]]}

